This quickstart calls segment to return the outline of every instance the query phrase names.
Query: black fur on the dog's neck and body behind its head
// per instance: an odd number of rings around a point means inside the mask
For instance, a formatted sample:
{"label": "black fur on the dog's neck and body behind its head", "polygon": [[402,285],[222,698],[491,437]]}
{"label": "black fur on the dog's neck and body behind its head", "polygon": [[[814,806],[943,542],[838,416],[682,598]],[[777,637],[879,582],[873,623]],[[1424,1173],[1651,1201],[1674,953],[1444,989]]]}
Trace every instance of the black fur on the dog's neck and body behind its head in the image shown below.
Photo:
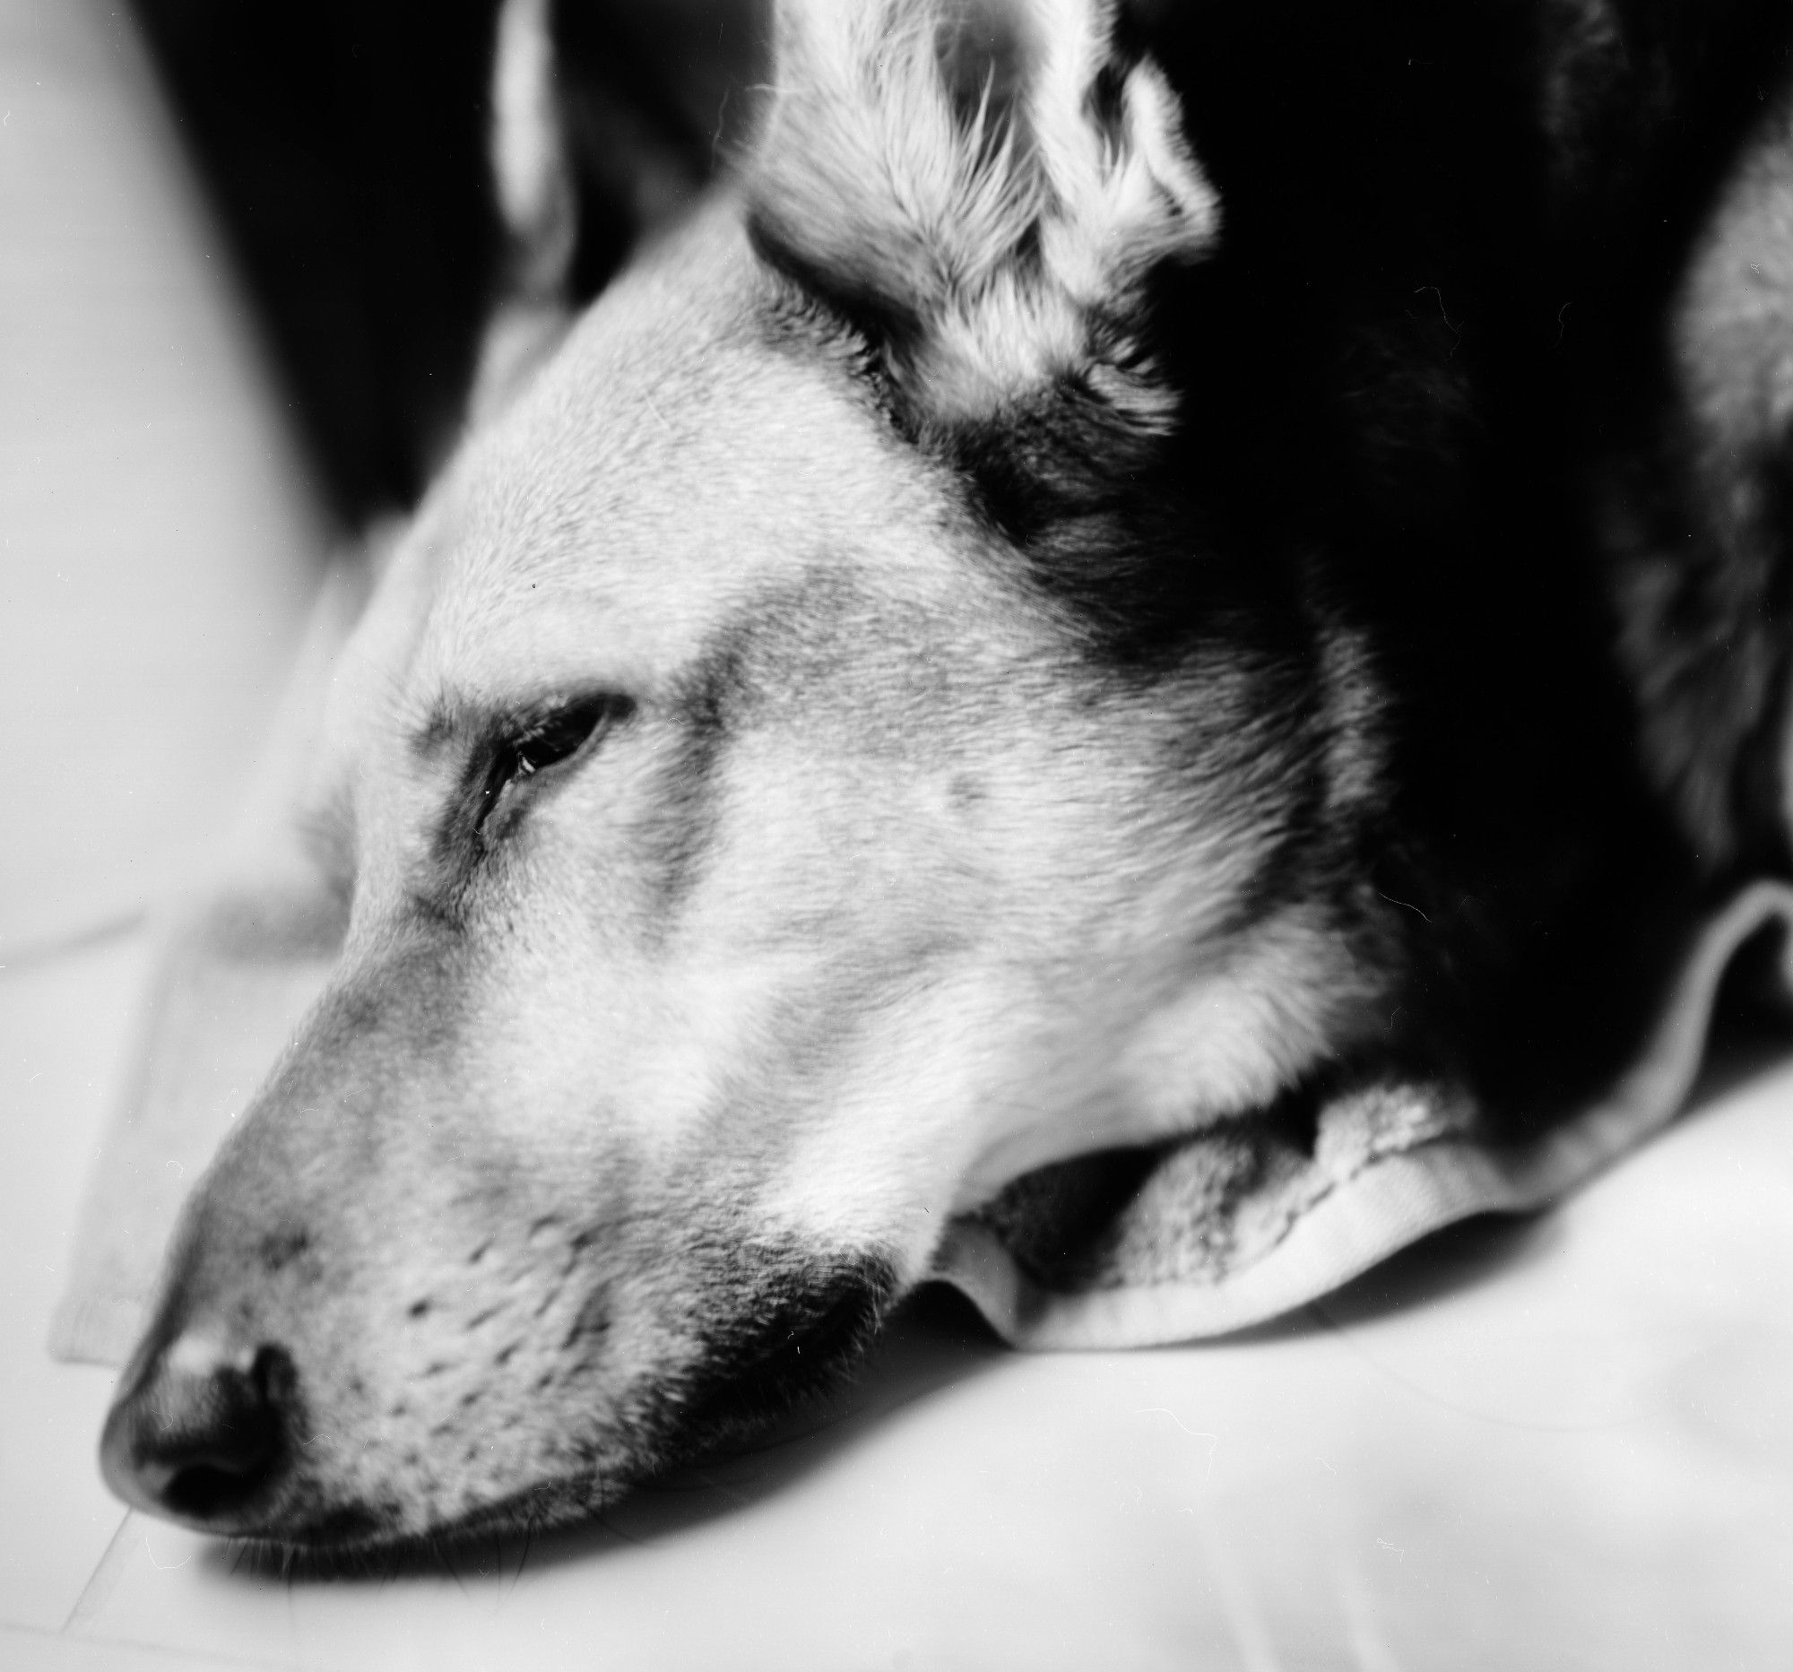
{"label": "black fur on the dog's neck and body behind its head", "polygon": [[[1700,899],[1784,865],[1763,748],[1736,750],[1728,859],[1662,795],[1596,492],[1667,481],[1673,533],[1664,318],[1779,74],[1782,9],[1156,0],[1122,29],[1122,56],[1167,70],[1223,213],[1216,251],[1144,303],[1173,436],[1142,445],[1063,380],[911,440],[1113,676],[1278,669],[1291,779],[1318,770],[1325,640],[1361,635],[1386,795],[1300,802],[1262,904],[1329,897],[1386,967],[1391,1048],[1547,1119],[1635,1051]],[[902,334],[760,244],[873,362]],[[1705,562],[1721,581],[1694,570],[1685,612],[1730,596],[1725,554]]]}

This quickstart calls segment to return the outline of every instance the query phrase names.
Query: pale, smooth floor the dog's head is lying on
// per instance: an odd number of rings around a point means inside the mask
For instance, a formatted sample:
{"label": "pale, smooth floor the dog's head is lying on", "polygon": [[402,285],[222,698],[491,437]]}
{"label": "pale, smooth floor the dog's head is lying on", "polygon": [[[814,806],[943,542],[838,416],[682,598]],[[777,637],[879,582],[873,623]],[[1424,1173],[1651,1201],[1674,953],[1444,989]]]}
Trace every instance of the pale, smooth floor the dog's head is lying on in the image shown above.
{"label": "pale, smooth floor the dog's head is lying on", "polygon": [[99,1484],[50,1363],[142,906],[219,829],[321,536],[142,66],[0,0],[0,1667],[1793,1663],[1793,1069],[1287,1328],[855,1396],[590,1534],[319,1584]]}

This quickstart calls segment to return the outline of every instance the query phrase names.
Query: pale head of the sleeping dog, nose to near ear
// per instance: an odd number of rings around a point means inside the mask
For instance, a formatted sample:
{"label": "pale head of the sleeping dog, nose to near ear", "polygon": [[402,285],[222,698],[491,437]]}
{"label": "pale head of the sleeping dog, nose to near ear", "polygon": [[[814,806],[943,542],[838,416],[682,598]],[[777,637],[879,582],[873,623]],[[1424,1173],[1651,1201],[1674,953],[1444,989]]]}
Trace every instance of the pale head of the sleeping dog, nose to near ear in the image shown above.
{"label": "pale head of the sleeping dog, nose to near ear", "polygon": [[491,400],[346,655],[341,967],[188,1206],[118,1491],[590,1512],[848,1360],[956,1209],[1357,1026],[1311,856],[1363,669],[1160,468],[1153,283],[1216,237],[1106,7],[785,13],[744,178]]}

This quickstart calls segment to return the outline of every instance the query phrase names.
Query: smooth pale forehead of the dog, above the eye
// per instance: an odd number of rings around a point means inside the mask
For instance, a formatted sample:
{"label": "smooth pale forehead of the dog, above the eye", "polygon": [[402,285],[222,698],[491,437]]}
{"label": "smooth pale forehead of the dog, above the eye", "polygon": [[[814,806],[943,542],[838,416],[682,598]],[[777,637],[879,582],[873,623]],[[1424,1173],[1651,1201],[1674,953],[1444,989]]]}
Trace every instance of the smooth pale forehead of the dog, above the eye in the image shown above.
{"label": "smooth pale forehead of the dog, above the eye", "polygon": [[780,341],[769,283],[712,213],[593,305],[446,486],[420,671],[651,678],[818,576],[905,603],[977,583],[938,472]]}

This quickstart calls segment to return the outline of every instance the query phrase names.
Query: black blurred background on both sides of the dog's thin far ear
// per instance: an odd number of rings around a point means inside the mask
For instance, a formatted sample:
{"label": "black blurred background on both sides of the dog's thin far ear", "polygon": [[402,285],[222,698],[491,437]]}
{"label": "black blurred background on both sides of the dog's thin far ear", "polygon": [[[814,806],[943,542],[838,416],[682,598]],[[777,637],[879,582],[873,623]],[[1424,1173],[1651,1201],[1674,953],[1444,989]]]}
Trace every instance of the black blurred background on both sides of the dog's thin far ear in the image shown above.
{"label": "black blurred background on both sides of the dog's thin far ear", "polygon": [[[131,5],[332,511],[355,526],[412,504],[504,271],[486,172],[498,0]],[[554,5],[581,298],[726,156],[758,13]]]}

